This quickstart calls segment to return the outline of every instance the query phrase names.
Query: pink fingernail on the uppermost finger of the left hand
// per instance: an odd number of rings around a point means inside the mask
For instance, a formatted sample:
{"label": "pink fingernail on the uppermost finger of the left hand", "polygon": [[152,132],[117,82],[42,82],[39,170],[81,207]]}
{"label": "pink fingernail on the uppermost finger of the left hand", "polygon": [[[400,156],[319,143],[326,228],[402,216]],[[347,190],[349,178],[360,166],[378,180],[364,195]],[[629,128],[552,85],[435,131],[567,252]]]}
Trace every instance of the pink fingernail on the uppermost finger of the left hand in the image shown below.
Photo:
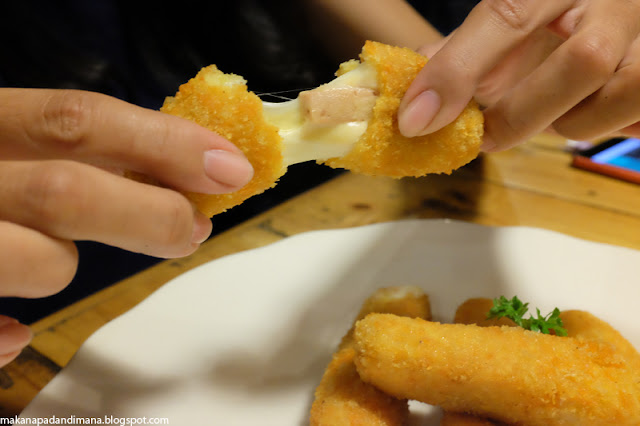
{"label": "pink fingernail on the uppermost finger of the left hand", "polygon": [[204,153],[204,171],[209,177],[231,189],[242,188],[253,177],[253,167],[242,154],[221,149]]}

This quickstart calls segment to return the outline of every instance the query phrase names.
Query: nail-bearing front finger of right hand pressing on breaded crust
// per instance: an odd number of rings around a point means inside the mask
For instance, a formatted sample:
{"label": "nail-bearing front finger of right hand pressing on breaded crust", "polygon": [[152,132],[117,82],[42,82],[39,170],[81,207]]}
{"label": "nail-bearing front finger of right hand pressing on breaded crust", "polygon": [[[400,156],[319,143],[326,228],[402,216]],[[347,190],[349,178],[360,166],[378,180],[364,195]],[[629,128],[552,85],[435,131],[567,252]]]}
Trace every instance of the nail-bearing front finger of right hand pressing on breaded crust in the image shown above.
{"label": "nail-bearing front finger of right hand pressing on breaded crust", "polygon": [[482,78],[574,0],[484,0],[435,54],[407,90],[398,125],[405,136],[432,133],[452,122]]}

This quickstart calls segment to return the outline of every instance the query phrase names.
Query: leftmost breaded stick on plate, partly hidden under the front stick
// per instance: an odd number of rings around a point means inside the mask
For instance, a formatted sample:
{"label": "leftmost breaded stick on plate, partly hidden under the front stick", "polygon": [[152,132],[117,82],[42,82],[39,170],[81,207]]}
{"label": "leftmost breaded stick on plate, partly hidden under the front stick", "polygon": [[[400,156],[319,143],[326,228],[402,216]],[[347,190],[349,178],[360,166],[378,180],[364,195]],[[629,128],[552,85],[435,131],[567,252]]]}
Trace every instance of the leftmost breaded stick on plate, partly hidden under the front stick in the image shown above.
{"label": "leftmost breaded stick on plate, partly hidden under the front stick", "polygon": [[[409,317],[431,317],[429,298],[417,287],[380,288],[362,304],[356,320],[372,312],[393,312]],[[311,407],[312,426],[401,426],[409,408],[407,401],[389,396],[364,383],[354,364],[353,328],[343,337],[338,351],[316,388]]]}

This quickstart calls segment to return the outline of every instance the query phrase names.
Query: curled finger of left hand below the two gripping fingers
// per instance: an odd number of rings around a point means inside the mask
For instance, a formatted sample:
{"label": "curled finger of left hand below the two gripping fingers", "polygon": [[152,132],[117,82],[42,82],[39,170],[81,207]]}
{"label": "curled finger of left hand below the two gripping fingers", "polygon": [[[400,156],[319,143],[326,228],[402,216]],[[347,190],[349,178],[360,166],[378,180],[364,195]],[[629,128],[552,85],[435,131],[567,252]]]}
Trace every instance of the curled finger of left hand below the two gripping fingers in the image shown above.
{"label": "curled finger of left hand below the two gripping fingers", "polygon": [[71,241],[0,221],[0,296],[45,297],[66,287],[76,273]]}

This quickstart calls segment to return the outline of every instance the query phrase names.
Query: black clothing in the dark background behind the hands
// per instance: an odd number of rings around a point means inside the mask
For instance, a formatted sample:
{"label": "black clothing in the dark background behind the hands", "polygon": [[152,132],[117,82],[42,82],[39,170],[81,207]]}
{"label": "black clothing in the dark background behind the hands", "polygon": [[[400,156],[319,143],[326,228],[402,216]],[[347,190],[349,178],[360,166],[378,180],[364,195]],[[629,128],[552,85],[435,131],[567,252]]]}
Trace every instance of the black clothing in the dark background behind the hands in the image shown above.
{"label": "black clothing in the dark background behind the hands", "polygon": [[[443,33],[475,1],[411,1]],[[293,0],[7,0],[0,2],[0,86],[74,88],[158,109],[206,65],[242,75],[258,94],[317,86],[336,64],[322,55]],[[374,3],[372,3],[374,4]],[[213,219],[214,234],[340,171],[300,164],[278,186]],[[33,322],[158,259],[79,242],[76,277],[39,300],[0,299],[0,313]]]}

